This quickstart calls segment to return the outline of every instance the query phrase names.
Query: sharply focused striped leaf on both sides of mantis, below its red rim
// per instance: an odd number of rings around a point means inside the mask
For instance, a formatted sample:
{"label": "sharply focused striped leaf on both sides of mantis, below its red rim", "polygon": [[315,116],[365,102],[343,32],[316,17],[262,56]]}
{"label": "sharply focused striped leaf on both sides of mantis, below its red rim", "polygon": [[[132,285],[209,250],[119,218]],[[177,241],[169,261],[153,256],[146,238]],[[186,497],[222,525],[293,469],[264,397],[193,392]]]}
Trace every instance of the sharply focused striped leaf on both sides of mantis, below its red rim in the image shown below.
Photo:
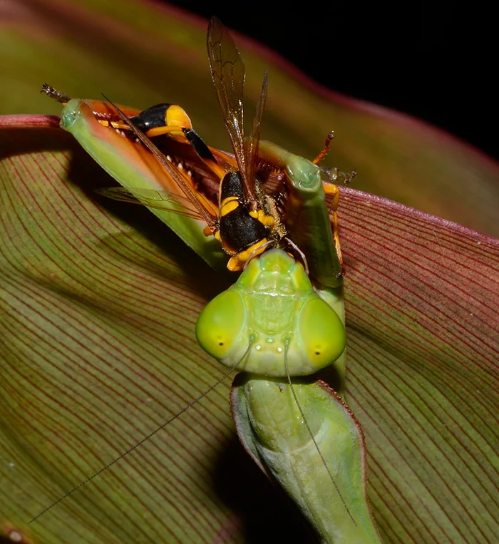
{"label": "sharply focused striped leaf on both sides of mantis, below its red rim", "polygon": [[[264,509],[247,467],[220,490],[229,384],[28,527],[222,375],[194,324],[227,282],[146,210],[92,193],[109,179],[67,133],[0,136],[0,523],[51,543],[240,540]],[[347,393],[382,537],[493,541],[499,242],[351,189],[339,221]]]}

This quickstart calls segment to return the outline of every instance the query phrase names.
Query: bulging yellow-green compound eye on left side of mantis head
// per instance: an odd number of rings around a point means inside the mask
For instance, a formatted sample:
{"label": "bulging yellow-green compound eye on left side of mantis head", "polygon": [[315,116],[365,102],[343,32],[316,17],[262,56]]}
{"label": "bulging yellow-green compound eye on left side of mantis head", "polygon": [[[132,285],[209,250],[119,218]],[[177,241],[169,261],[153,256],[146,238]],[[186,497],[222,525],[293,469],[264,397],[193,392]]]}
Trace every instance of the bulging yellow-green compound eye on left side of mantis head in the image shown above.
{"label": "bulging yellow-green compound eye on left side of mantis head", "polygon": [[196,323],[196,338],[215,359],[230,355],[246,323],[246,308],[240,294],[231,289],[208,302]]}

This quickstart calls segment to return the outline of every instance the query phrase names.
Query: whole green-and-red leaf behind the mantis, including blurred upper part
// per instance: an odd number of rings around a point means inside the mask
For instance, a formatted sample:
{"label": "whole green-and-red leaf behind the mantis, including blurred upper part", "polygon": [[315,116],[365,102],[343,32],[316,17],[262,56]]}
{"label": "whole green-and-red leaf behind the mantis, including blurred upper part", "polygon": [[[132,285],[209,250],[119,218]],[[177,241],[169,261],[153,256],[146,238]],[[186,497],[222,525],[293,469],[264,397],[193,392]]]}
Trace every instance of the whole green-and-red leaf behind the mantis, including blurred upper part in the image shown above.
{"label": "whole green-and-red leaf behind the mantis, including blurred upper part", "polygon": [[[211,145],[228,148],[204,25],[135,1],[24,0],[1,10],[1,113],[60,113],[38,94],[46,81],[130,106],[178,102]],[[330,162],[356,168],[356,188],[499,235],[493,161],[418,121],[318,89],[237,41],[250,108],[269,68],[264,138],[312,157],[334,128]],[[223,373],[193,326],[227,278],[145,210],[96,197],[110,179],[69,135],[47,128],[56,123],[10,118],[0,130],[0,528],[42,543],[282,539],[294,516],[279,518],[282,501],[240,456],[229,384],[27,525]],[[499,242],[349,189],[339,224],[349,405],[366,434],[382,538],[493,542]]]}

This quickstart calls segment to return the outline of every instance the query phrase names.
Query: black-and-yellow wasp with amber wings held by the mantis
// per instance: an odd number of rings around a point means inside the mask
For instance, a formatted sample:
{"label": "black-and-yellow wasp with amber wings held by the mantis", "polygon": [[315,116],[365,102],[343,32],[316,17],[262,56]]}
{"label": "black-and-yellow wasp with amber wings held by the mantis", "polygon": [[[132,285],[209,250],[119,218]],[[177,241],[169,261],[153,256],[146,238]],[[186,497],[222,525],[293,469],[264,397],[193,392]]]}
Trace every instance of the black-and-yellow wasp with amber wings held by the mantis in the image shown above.
{"label": "black-and-yellow wasp with amber wings held by the mantis", "polygon": [[[277,146],[264,143],[267,150],[272,148],[270,159],[262,160],[259,157],[262,116],[267,98],[267,72],[262,81],[252,134],[245,138],[242,105],[245,66],[232,36],[215,17],[211,19],[207,32],[207,51],[212,81],[235,158],[232,160],[210,148],[192,128],[187,113],[176,104],[162,103],[138,112],[110,101],[112,108],[103,110],[103,103],[95,101],[93,115],[98,122],[142,143],[173,180],[176,188],[180,189],[180,194],[122,187],[104,188],[98,192],[115,200],[138,203],[202,220],[206,225],[205,235],[214,236],[219,240],[222,249],[230,255],[227,268],[231,271],[242,270],[249,260],[271,247],[283,247],[292,255],[298,255],[307,268],[304,253],[287,236],[286,191],[277,191],[274,196],[267,194],[257,175],[262,175],[262,180],[269,175],[282,180],[286,168],[285,160],[284,164],[277,164],[279,152],[276,153],[274,149],[278,149]],[[71,100],[71,97],[58,93],[48,85],[43,85],[42,92],[63,104]],[[212,185],[210,197],[205,195],[206,187],[203,185],[200,188],[193,180],[193,173],[200,168],[199,161],[189,165],[182,156],[185,155],[185,148],[176,156],[172,153],[165,154],[151,140],[165,135],[170,142],[173,140],[188,143],[201,164],[209,171],[211,178],[217,180],[217,188],[215,190]],[[332,133],[326,138],[324,148],[312,161],[313,164],[324,158],[331,139]],[[275,160],[276,156],[278,160]],[[204,180],[207,179],[205,176]],[[336,226],[339,192],[335,183],[324,183],[324,188],[326,193],[333,195],[334,245],[341,260]]]}

